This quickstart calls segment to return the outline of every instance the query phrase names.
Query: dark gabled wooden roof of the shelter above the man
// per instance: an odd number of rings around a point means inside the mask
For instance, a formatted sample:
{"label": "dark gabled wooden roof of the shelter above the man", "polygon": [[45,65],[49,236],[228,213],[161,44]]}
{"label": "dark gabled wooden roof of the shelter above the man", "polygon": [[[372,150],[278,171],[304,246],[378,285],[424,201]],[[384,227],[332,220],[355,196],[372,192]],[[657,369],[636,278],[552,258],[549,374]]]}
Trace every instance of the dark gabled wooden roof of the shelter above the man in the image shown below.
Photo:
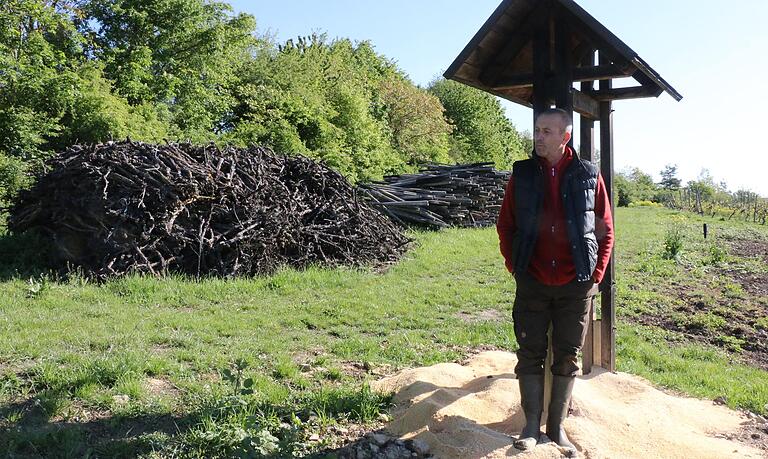
{"label": "dark gabled wooden roof of the shelter above the man", "polygon": [[[543,81],[534,76],[534,34],[543,27],[550,31],[552,47],[554,30],[565,31],[564,59],[572,63],[569,77],[574,82],[631,77],[639,83],[585,93],[591,99],[658,97],[662,92],[682,99],[636,52],[572,0],[503,0],[444,76],[532,106],[533,83]],[[600,63],[582,65],[593,58],[595,50],[600,53]],[[562,77],[554,70],[548,73],[546,78]]]}

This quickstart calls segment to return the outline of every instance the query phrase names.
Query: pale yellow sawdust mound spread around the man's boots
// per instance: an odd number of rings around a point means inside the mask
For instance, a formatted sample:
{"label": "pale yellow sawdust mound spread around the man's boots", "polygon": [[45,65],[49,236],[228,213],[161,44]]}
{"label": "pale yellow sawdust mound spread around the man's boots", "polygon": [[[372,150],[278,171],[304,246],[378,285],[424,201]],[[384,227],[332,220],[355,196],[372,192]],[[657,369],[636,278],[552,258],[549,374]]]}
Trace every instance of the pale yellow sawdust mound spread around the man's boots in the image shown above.
{"label": "pale yellow sawdust mound spread around the man's boots", "polygon": [[[551,442],[526,452],[512,445],[524,424],[515,363],[514,354],[484,352],[466,365],[408,369],[373,387],[395,393],[388,430],[424,440],[437,458],[562,457]],[[578,377],[572,408],[565,429],[581,457],[763,457],[760,450],[716,436],[737,431],[744,415],[666,394],[636,376],[595,368]]]}

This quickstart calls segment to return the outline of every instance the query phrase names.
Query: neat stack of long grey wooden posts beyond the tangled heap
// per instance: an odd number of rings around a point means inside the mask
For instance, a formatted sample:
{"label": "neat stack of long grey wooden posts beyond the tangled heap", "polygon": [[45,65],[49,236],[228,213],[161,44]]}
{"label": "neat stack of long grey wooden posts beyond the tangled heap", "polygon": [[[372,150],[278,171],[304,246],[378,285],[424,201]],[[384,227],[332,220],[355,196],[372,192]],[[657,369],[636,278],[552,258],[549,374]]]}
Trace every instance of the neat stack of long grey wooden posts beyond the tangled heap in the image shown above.
{"label": "neat stack of long grey wooden posts beyond the tangled heap", "polygon": [[418,174],[388,176],[360,189],[402,225],[488,226],[496,222],[511,174],[492,164],[429,165]]}

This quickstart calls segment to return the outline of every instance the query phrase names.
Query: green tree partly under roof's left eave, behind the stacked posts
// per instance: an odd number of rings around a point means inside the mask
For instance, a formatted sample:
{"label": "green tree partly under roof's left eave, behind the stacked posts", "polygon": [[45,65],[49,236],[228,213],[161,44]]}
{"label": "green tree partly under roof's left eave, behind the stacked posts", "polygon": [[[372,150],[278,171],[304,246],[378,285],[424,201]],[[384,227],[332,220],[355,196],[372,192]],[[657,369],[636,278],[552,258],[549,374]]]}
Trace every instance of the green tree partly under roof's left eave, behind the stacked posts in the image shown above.
{"label": "green tree partly under roof's left eave, behind the stacked posts", "polygon": [[429,90],[445,107],[453,125],[450,155],[456,162],[492,161],[509,169],[529,152],[494,96],[451,80],[434,81]]}

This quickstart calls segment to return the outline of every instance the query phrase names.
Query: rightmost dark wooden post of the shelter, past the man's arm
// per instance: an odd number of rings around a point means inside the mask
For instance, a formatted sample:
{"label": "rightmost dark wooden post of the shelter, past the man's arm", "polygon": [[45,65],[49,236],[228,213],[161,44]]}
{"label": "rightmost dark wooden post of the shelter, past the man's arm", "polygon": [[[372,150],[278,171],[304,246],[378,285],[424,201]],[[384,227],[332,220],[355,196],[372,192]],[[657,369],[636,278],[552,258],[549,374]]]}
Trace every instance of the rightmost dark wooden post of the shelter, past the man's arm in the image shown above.
{"label": "rightmost dark wooden post of the shelter, past the man's arm", "polygon": [[[601,53],[600,63],[610,63]],[[611,89],[611,81],[600,82],[601,90]],[[614,210],[613,199],[613,109],[610,101],[600,102],[600,170]],[[601,283],[601,366],[609,371],[616,371],[616,283],[613,266],[613,254]]]}

